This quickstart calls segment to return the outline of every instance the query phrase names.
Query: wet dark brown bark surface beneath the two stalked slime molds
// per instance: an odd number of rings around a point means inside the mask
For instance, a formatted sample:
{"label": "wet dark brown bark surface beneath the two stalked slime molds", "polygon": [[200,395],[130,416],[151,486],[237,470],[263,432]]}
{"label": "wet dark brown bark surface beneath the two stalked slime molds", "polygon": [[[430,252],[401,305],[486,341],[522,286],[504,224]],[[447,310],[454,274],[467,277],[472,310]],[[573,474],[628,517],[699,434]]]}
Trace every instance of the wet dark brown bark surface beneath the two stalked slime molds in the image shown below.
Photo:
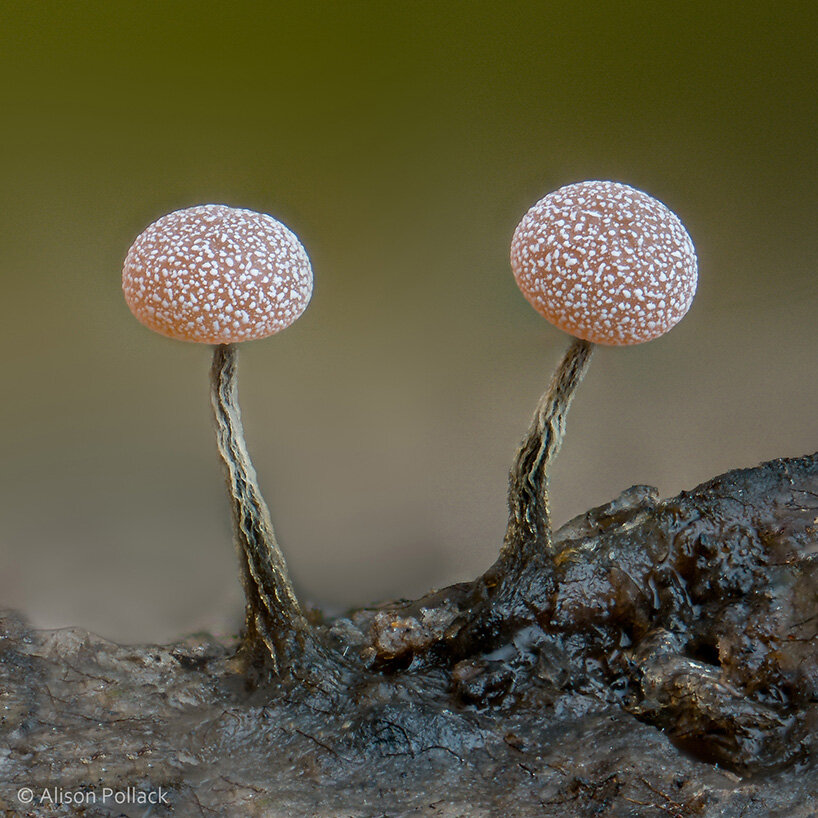
{"label": "wet dark brown bark surface beneath the two stalked slime molds", "polygon": [[[121,647],[7,614],[0,805],[818,815],[818,455],[668,500],[634,487],[541,553],[419,600],[312,614],[314,661],[279,676],[206,636]],[[101,802],[128,786],[168,803]]]}

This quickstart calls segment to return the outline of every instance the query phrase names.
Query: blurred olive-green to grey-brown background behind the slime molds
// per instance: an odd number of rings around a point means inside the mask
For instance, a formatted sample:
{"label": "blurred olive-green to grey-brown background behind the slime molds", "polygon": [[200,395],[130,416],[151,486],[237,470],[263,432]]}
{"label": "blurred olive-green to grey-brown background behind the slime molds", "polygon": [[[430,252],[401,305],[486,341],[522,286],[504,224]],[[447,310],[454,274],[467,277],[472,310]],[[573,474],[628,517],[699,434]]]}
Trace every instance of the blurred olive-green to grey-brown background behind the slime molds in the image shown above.
{"label": "blurred olive-green to grey-brown background behind the slime molds", "polygon": [[302,595],[338,611],[495,558],[567,338],[517,291],[537,199],[614,179],[700,261],[688,317],[601,349],[560,523],[818,448],[813,3],[15,2],[0,9],[0,606],[120,641],[234,631],[210,350],[144,329],[122,259],[203,202],[271,213],[315,294],[241,350]]}

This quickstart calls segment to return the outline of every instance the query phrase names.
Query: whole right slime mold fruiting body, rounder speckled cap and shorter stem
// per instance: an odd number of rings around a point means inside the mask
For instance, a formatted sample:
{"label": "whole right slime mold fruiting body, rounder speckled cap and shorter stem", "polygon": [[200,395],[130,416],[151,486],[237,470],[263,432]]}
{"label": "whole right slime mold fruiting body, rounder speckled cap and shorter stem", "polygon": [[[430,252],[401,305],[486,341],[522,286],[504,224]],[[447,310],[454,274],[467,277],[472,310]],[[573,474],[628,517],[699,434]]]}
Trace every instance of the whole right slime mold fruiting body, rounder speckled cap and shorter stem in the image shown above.
{"label": "whole right slime mold fruiting body, rounder speckled cap and shorter stem", "polygon": [[504,553],[527,563],[531,543],[550,548],[548,468],[593,344],[623,346],[667,332],[696,292],[693,242],[665,205],[618,182],[590,181],[549,193],[523,216],[511,267],[534,309],[577,340],[540,399],[511,470]]}

